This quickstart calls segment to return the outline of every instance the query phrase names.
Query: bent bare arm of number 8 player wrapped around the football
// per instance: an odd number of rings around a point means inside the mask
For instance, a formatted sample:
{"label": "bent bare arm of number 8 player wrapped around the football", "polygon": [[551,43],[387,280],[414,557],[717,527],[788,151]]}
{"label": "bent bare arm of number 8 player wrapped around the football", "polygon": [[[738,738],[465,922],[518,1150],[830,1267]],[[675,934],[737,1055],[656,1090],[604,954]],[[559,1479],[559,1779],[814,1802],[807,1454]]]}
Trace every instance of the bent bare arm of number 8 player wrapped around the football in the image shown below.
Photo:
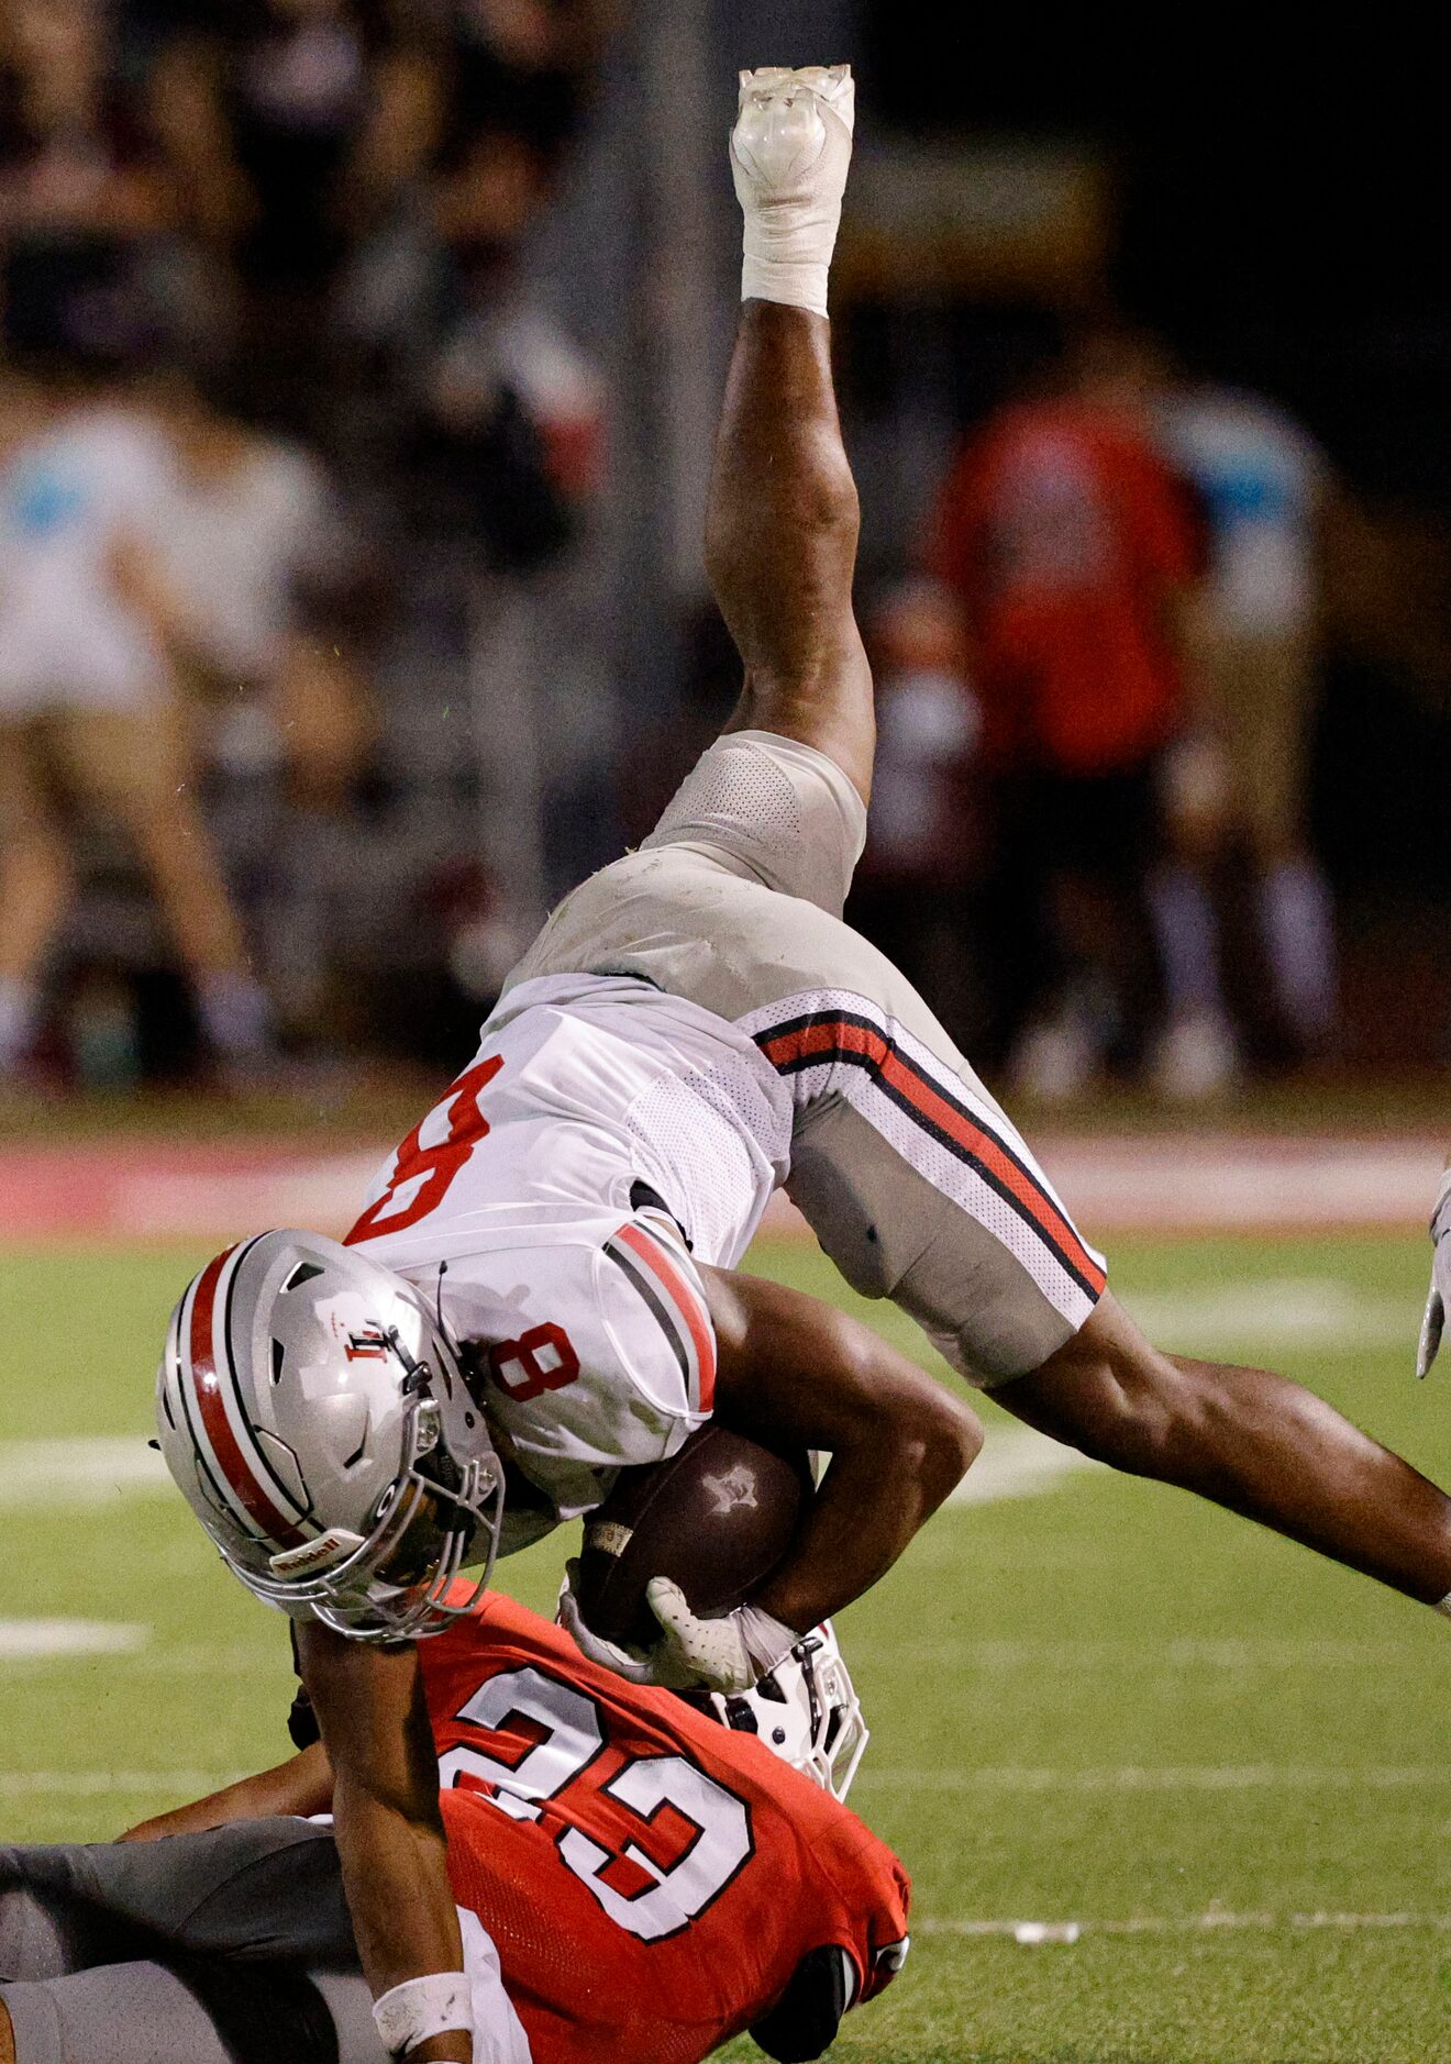
{"label": "bent bare arm of number 8 player wrapped around the football", "polygon": [[832,1457],[791,1556],[753,1604],[805,1631],[883,1577],[982,1447],[976,1414],[877,1333],[799,1290],[702,1269],[716,1416]]}

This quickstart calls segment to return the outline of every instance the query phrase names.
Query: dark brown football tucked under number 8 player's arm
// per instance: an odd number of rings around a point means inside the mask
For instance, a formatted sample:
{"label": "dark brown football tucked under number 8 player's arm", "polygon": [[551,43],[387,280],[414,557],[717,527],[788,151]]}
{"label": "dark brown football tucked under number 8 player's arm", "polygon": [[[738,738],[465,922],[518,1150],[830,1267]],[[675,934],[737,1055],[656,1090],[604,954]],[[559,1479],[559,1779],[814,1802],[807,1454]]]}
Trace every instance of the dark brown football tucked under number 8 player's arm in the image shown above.
{"label": "dark brown football tucked under number 8 player's arm", "polygon": [[805,1449],[778,1455],[714,1420],[669,1461],[621,1470],[584,1521],[584,1624],[648,1647],[660,1633],[644,1595],[652,1577],[673,1577],[706,1618],[731,1612],[780,1562],[811,1494]]}

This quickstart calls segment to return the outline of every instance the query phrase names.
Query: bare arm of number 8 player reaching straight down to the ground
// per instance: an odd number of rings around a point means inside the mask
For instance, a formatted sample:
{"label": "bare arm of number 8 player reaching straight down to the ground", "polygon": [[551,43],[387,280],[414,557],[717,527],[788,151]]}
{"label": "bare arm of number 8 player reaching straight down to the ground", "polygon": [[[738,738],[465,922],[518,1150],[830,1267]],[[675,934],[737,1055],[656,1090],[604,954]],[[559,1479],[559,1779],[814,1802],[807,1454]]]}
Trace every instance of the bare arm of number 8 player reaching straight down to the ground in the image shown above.
{"label": "bare arm of number 8 player reaching straight down to the ground", "polygon": [[[374,1998],[448,1973],[466,2002],[417,1651],[349,1641],[305,1622],[297,1662],[332,1765],[343,1889]],[[469,2064],[469,2025],[409,2045],[409,2056]]]}

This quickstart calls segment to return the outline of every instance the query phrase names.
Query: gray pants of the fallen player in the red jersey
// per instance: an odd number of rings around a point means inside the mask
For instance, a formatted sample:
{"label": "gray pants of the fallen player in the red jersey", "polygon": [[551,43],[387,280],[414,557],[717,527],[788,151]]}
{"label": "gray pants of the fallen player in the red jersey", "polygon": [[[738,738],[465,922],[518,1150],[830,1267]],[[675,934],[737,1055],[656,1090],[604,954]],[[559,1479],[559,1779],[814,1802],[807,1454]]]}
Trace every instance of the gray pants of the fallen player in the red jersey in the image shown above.
{"label": "gray pants of the fallen player in the red jersey", "polygon": [[332,1835],[0,1849],[17,2064],[386,2064]]}

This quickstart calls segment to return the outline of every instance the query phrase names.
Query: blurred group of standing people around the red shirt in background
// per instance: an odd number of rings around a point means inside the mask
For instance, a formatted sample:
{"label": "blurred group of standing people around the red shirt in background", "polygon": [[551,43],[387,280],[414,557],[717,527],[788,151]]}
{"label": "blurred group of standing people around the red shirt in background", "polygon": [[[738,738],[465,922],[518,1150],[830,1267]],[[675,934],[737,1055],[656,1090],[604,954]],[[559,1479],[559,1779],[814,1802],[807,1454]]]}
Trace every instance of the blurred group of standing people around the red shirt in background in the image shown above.
{"label": "blurred group of standing people around the red shirt in background", "polygon": [[1113,326],[947,466],[871,625],[857,918],[1020,1094],[1146,1075],[1195,1102],[1333,1055],[1309,844],[1329,485],[1282,409]]}

